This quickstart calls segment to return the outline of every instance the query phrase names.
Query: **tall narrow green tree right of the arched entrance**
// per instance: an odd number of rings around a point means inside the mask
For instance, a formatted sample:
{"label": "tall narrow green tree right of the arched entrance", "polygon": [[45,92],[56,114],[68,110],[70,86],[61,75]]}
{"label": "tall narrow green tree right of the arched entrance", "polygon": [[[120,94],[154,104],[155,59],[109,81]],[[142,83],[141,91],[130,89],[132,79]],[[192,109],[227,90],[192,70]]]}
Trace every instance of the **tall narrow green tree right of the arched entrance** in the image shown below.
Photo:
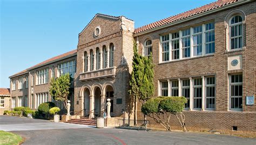
{"label": "tall narrow green tree right of the arched entrance", "polygon": [[[150,56],[142,56],[138,54],[135,41],[133,41],[133,53],[129,92],[134,98],[134,120],[137,120],[138,100],[143,105],[154,94],[154,64],[152,54]],[[146,120],[146,115],[144,115],[144,119]]]}

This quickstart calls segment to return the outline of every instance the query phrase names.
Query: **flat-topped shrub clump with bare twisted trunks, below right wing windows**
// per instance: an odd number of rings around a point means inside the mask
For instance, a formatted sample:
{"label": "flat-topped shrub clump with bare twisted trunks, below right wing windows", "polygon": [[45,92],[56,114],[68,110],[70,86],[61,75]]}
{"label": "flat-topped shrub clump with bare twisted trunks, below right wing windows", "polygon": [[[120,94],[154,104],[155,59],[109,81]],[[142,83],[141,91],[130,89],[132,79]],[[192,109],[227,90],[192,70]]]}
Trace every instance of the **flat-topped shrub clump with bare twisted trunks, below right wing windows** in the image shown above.
{"label": "flat-topped shrub clump with bare twisted trunks, below right wing windows", "polygon": [[175,115],[181,127],[183,127],[183,131],[186,132],[187,130],[184,124],[185,115],[182,112],[185,103],[187,103],[185,97],[152,98],[142,106],[142,112],[163,126],[166,131],[171,131],[170,118],[171,115]]}

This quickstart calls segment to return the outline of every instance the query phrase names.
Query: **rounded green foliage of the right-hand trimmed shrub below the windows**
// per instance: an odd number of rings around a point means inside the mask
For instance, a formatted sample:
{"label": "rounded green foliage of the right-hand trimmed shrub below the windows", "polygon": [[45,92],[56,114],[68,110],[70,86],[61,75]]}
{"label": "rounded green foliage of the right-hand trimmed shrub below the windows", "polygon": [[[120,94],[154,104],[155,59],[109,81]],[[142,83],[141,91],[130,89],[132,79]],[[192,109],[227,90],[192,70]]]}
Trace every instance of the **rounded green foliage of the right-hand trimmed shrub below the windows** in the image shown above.
{"label": "rounded green foliage of the right-hand trimmed shrub below the windows", "polygon": [[187,99],[184,97],[165,97],[159,103],[159,109],[170,113],[179,113],[184,110]]}

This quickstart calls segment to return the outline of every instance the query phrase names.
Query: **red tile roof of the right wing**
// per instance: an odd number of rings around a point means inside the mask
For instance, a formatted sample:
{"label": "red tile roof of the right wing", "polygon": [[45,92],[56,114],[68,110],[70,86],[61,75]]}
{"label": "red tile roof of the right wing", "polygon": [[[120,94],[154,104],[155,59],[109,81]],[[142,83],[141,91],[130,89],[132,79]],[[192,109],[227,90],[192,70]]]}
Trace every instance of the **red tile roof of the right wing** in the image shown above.
{"label": "red tile roof of the right wing", "polygon": [[150,30],[152,28],[156,28],[156,27],[159,27],[159,26],[162,26],[162,25],[165,25],[165,24],[170,24],[174,21],[184,19],[184,18],[187,18],[187,17],[191,17],[191,16],[194,16],[195,14],[202,13],[202,12],[205,12],[205,11],[209,11],[209,10],[212,10],[212,9],[216,9],[216,8],[221,7],[221,6],[231,4],[231,3],[234,3],[234,2],[237,2],[237,1],[238,0],[219,0],[217,2],[206,4],[206,5],[201,6],[199,8],[192,9],[192,10],[189,10],[189,11],[186,11],[186,12],[183,12],[183,13],[177,14],[175,16],[165,18],[165,19],[161,19],[159,21],[156,21],[154,23],[151,23],[151,24],[148,24],[148,25],[145,25],[145,26],[142,26],[142,27],[138,27],[134,30],[134,34],[140,33],[140,32],[146,31],[146,30]]}

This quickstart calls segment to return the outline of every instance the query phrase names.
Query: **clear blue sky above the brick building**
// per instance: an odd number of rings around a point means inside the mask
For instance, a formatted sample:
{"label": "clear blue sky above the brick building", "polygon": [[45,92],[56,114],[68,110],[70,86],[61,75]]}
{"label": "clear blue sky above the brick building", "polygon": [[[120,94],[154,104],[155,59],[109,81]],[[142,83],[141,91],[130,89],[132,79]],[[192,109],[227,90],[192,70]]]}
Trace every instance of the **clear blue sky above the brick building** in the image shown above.
{"label": "clear blue sky above the brick building", "polygon": [[96,13],[125,16],[137,28],[211,2],[0,0],[0,88],[9,88],[9,76],[76,49],[78,33]]}

